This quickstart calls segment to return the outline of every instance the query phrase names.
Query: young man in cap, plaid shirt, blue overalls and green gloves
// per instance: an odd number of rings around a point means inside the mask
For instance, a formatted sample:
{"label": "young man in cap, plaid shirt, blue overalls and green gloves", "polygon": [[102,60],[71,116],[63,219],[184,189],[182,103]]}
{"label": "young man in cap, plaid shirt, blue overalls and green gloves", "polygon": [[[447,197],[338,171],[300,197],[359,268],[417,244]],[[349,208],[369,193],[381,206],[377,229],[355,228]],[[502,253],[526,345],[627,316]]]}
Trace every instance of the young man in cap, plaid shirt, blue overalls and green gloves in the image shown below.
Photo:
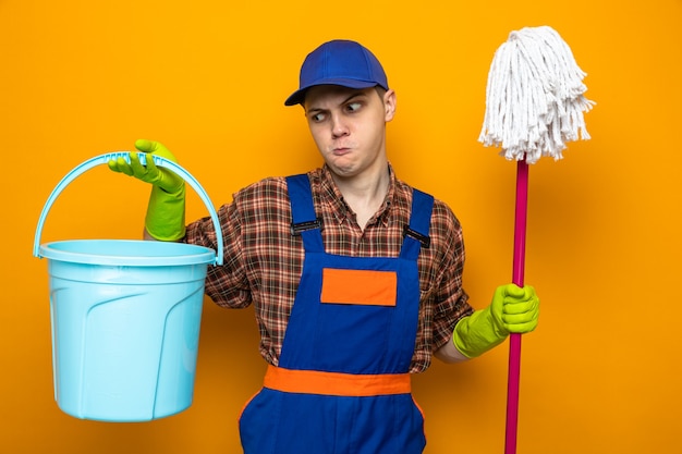
{"label": "young man in cap, plaid shirt, blue overalls and green gloves", "polygon": [[[321,45],[285,105],[303,106],[325,164],[257,182],[222,206],[226,260],[206,280],[218,305],[255,306],[269,365],[240,420],[244,452],[422,453],[410,375],[433,355],[460,361],[532,331],[538,298],[509,284],[487,308],[468,305],[456,218],[388,161],[395,93],[369,50]],[[174,159],[158,143],[135,145]],[[216,247],[210,219],[185,229],[181,179],[136,159],[110,167],[153,184],[146,236]]]}

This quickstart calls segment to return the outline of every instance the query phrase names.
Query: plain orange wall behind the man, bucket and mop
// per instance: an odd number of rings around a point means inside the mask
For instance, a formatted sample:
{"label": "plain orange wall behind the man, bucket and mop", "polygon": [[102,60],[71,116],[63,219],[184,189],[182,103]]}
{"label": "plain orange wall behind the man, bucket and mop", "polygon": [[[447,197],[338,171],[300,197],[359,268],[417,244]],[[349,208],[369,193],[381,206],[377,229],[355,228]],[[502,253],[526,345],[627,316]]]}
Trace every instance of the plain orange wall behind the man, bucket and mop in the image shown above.
{"label": "plain orange wall behind the man, bucket and mop", "polygon": [[[519,452],[680,453],[682,2],[0,1],[3,271],[0,452],[236,453],[259,388],[251,309],[209,300],[194,405],[146,424],[84,421],[53,402],[38,214],[71,169],[136,138],[165,143],[214,203],[320,159],[284,108],[304,56],[357,39],[398,93],[399,176],[462,221],[476,307],[511,279],[514,164],[477,143],[495,50],[550,25],[597,107],[593,139],[531,169],[526,282],[543,299],[524,338]],[[41,242],[137,238],[147,187],[95,169],[50,212]],[[188,219],[206,213],[190,198]],[[429,454],[501,453],[507,345],[414,380]]]}

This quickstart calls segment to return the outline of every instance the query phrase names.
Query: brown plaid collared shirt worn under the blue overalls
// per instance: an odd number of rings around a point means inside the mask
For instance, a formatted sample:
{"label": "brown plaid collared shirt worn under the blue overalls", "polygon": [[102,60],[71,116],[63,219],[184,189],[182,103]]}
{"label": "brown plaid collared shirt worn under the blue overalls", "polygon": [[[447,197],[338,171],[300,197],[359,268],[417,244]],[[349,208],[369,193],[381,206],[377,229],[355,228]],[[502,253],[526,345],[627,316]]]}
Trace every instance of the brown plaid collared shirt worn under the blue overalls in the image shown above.
{"label": "brown plaid collared shirt worn under the blue overalls", "polygon": [[[390,169],[390,168],[389,168]],[[363,231],[325,167],[308,173],[315,211],[322,219],[328,254],[353,257],[398,257],[403,228],[410,222],[412,188],[395,179],[381,208]],[[260,331],[260,353],[275,366],[287,330],[303,269],[300,236],[291,234],[287,182],[271,177],[234,195],[219,209],[224,236],[224,265],[209,267],[206,294],[219,306],[243,308],[252,303]],[[455,322],[473,309],[462,289],[464,244],[452,211],[436,200],[428,248],[422,248],[419,270],[419,326],[411,372],[428,368],[431,352],[450,339]],[[216,248],[210,218],[187,225],[185,241]]]}

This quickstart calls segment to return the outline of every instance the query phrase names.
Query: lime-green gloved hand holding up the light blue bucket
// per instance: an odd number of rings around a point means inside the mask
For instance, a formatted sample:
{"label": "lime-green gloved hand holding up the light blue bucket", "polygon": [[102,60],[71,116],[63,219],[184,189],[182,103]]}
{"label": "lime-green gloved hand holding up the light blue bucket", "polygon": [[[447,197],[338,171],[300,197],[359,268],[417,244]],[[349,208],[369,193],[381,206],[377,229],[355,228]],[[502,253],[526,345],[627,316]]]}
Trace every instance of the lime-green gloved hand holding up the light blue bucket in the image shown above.
{"label": "lime-green gloved hand holding up the light blue bucket", "polygon": [[[139,151],[157,155],[178,162],[172,152],[158,142],[135,142]],[[159,241],[176,241],[185,235],[185,182],[168,169],[157,168],[153,159],[146,165],[139,162],[136,152],[131,152],[131,162],[123,158],[109,161],[109,169],[125,173],[151,184],[145,228],[149,235]]]}

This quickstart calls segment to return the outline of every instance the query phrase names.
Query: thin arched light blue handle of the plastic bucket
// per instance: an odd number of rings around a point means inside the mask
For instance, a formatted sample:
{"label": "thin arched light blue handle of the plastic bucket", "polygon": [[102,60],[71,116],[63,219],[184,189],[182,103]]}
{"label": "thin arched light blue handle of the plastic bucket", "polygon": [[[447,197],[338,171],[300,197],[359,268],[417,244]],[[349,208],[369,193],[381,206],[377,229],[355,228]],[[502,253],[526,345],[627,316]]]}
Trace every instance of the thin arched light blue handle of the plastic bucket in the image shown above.
{"label": "thin arched light blue handle of the plastic bucket", "polygon": [[[190,174],[190,172],[187,172],[186,170],[184,170],[182,167],[180,167],[179,164],[176,164],[173,161],[170,161],[166,158],[162,158],[160,156],[157,155],[146,155],[146,154],[138,154],[137,155],[139,158],[139,162],[145,165],[147,162],[148,157],[151,157],[154,159],[154,163],[157,167],[161,167],[161,168],[166,168],[169,169],[171,171],[173,171],[173,173],[178,174],[179,176],[181,176],[190,186],[192,186],[192,188],[198,194],[198,196],[202,198],[202,201],[204,201],[204,205],[206,205],[206,208],[208,208],[208,211],[210,213],[210,218],[214,221],[214,226],[216,229],[216,241],[218,243],[218,251],[216,254],[216,260],[214,262],[214,265],[222,265],[222,230],[220,229],[220,221],[218,219],[218,213],[216,213],[216,210],[214,209],[214,206],[210,201],[210,198],[208,197],[208,194],[206,194],[206,191],[204,191],[204,188],[202,187],[202,185],[196,181],[196,179],[194,176],[192,176]],[[77,176],[80,176],[82,173],[97,167],[100,164],[106,164],[108,163],[110,160],[115,160],[118,158],[123,158],[125,159],[126,162],[131,162],[131,154],[130,151],[112,151],[112,152],[108,152],[105,155],[100,155],[100,156],[96,156],[94,158],[88,159],[87,161],[81,163],[80,165],[75,167],[71,172],[69,172],[66,174],[66,176],[64,176],[62,179],[62,181],[59,182],[59,184],[54,187],[54,189],[52,189],[52,193],[50,194],[50,196],[48,197],[47,201],[45,203],[45,206],[42,207],[42,212],[40,212],[40,219],[38,221],[38,226],[36,228],[36,235],[34,238],[34,244],[33,244],[33,255],[34,257],[40,257],[40,236],[42,234],[42,225],[45,224],[45,220],[47,218],[47,213],[48,211],[50,211],[50,208],[52,207],[52,204],[54,203],[54,200],[57,199],[57,197],[61,194],[61,192],[64,189],[64,187],[66,187],[72,181],[74,181]]]}

